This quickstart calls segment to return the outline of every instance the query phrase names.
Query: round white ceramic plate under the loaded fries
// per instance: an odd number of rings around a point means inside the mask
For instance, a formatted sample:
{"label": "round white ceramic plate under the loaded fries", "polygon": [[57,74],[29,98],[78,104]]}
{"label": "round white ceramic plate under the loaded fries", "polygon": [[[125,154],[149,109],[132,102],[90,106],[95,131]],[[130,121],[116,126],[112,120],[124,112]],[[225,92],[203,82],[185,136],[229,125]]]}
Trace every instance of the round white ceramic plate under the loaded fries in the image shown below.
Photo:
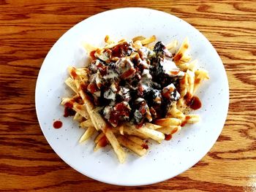
{"label": "round white ceramic plate under the loaded fries", "polygon": [[[83,42],[102,45],[105,35],[113,39],[131,39],[139,35],[168,43],[189,38],[190,54],[199,66],[208,70],[210,80],[203,82],[197,96],[203,103],[195,114],[200,122],[182,128],[170,141],[151,142],[148,153],[140,158],[128,153],[118,163],[110,147],[94,152],[93,139],[79,144],[83,134],[72,117],[64,118],[61,97],[71,96],[64,80],[68,66],[84,66],[88,56]],[[216,50],[197,29],[184,20],[153,9],[114,9],[78,23],[51,48],[39,72],[36,108],[39,124],[53,150],[72,168],[95,180],[115,185],[146,185],[175,177],[197,163],[216,142],[227,116],[229,91],[227,75]],[[61,120],[62,128],[53,128]]]}

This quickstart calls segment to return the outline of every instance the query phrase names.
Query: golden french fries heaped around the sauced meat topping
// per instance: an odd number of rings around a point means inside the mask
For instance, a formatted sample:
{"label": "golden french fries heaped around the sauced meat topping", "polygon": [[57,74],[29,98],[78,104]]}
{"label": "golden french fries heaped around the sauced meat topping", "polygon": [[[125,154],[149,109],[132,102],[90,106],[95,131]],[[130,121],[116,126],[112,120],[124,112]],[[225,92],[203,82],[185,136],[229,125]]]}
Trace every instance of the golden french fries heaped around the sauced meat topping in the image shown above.
{"label": "golden french fries heaped around the sauced meat topping", "polygon": [[[135,46],[146,46],[150,49],[153,49],[151,43],[155,40],[155,36],[149,38],[135,37],[132,39]],[[113,42],[107,36],[105,37],[105,47],[113,47],[122,41],[124,40]],[[166,45],[168,50],[175,50],[177,46],[177,41],[170,42]],[[87,53],[99,49],[87,44],[85,48]],[[187,114],[184,96],[186,96],[187,93],[194,95],[200,83],[204,79],[208,79],[208,72],[203,69],[197,69],[197,61],[189,62],[191,58],[187,54],[188,48],[189,42],[186,38],[173,58],[173,61],[179,69],[185,72],[184,83],[181,84],[181,99],[171,105],[166,118],[154,120],[154,123],[145,123],[141,128],[137,128],[132,123],[123,123],[116,128],[110,127],[108,123],[105,122],[104,118],[102,118],[102,115],[99,114],[98,107],[94,106],[89,96],[83,91],[83,86],[89,80],[88,69],[69,67],[68,71],[70,77],[67,78],[65,83],[72,89],[74,96],[63,98],[61,104],[72,104],[72,110],[76,112],[74,120],[78,121],[80,127],[85,129],[79,142],[85,142],[97,132],[97,137],[94,139],[94,150],[99,150],[99,148],[104,147],[105,144],[110,144],[120,163],[124,163],[127,154],[124,152],[123,147],[127,147],[132,152],[143,156],[148,150],[148,139],[161,143],[167,135],[178,133],[184,121],[186,121],[186,123],[196,123],[199,121],[199,115]],[[197,83],[195,83],[195,81]],[[76,101],[78,97],[82,99],[82,102]]]}

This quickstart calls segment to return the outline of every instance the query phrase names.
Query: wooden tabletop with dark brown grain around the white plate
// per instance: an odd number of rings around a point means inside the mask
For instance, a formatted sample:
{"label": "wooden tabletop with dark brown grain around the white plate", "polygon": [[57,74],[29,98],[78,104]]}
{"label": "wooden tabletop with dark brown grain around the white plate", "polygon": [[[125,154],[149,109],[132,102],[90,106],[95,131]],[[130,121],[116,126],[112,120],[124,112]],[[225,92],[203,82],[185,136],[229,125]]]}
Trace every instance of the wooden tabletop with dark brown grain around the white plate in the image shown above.
{"label": "wooden tabletop with dark brown grain around the white plate", "polygon": [[[211,151],[154,185],[99,183],[53,152],[37,121],[34,90],[42,61],[65,31],[118,7],[169,12],[198,28],[225,65],[230,108]],[[256,191],[256,1],[0,1],[0,191]]]}

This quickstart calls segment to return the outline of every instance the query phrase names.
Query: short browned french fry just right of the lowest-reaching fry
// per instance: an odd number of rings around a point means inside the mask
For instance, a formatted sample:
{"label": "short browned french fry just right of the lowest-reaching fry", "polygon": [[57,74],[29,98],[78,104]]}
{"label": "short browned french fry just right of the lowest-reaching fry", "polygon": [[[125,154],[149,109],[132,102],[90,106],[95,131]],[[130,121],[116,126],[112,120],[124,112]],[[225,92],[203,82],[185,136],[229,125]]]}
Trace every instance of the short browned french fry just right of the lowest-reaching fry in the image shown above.
{"label": "short browned french fry just right of the lowest-reaching fry", "polygon": [[132,150],[134,153],[143,156],[146,154],[146,149],[143,149],[142,146],[138,145],[135,142],[132,142],[131,140],[127,139],[124,136],[118,135],[117,137],[118,142],[120,142],[121,145],[124,147],[127,147],[129,150]]}

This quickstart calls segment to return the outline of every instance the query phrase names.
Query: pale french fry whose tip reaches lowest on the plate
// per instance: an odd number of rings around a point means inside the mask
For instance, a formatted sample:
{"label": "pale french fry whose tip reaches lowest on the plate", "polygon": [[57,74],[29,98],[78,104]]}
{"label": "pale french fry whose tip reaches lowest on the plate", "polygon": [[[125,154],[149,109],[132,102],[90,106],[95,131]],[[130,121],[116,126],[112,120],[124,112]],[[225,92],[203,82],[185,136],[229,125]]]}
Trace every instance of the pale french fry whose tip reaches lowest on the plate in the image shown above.
{"label": "pale french fry whose tip reaches lowest on the plate", "polygon": [[119,162],[121,164],[123,164],[125,161],[125,158],[126,158],[126,154],[124,153],[123,148],[118,143],[116,136],[113,134],[113,131],[111,131],[110,128],[105,129],[105,136],[107,137],[108,141],[110,142],[110,145],[113,147],[113,150],[115,151]]}

